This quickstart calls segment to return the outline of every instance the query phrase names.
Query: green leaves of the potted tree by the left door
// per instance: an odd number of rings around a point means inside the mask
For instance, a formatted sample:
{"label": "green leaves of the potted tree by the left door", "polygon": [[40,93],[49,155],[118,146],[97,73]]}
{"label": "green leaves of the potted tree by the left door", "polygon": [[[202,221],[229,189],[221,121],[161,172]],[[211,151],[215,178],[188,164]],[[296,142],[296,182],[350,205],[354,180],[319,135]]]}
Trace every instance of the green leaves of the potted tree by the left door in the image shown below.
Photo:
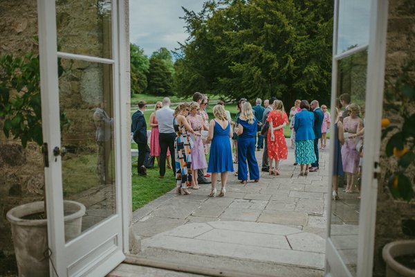
{"label": "green leaves of the potted tree by the left door", "polygon": [[[61,75],[60,60],[58,63]],[[4,134],[20,139],[24,148],[29,141],[42,145],[39,55],[0,57],[0,118],[4,119]],[[61,114],[61,125],[68,124],[66,115]]]}

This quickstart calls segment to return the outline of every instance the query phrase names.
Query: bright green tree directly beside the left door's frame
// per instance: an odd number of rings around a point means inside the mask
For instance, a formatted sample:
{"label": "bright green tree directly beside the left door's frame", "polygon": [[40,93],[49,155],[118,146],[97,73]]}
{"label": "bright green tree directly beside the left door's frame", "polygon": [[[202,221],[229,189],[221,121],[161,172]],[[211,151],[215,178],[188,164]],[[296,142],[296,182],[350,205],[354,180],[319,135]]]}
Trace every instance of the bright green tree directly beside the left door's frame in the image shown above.
{"label": "bright green tree directly beside the left door's frame", "polygon": [[144,50],[136,44],[130,44],[131,93],[142,93],[147,88],[149,65]]}

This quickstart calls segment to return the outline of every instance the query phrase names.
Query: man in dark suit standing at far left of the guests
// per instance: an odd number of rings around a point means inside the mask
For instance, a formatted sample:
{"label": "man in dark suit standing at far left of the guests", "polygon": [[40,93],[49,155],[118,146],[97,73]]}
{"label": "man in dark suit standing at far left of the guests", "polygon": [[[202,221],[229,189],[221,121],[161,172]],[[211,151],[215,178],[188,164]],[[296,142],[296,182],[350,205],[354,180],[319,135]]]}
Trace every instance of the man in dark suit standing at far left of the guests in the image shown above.
{"label": "man in dark suit standing at far left of the guests", "polygon": [[150,152],[149,145],[147,145],[147,123],[145,123],[144,111],[147,107],[145,101],[138,102],[138,111],[132,116],[131,132],[133,132],[133,139],[138,145],[138,175],[147,175],[147,169],[144,166],[144,161],[147,153]]}

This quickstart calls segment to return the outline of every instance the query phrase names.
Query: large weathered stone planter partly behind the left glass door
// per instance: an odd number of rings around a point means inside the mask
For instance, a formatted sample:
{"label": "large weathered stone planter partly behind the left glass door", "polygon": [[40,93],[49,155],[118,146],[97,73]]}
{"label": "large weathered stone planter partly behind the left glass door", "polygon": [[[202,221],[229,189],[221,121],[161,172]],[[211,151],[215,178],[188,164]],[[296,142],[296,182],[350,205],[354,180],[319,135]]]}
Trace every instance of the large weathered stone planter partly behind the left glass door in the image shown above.
{"label": "large weathered stone planter partly behind the left glass door", "polygon": [[[66,241],[81,233],[85,206],[78,202],[64,201]],[[42,213],[44,202],[32,202],[12,208],[7,219],[12,224],[12,238],[19,277],[49,276],[49,262],[44,252],[48,249],[47,220],[24,220],[22,217]]]}

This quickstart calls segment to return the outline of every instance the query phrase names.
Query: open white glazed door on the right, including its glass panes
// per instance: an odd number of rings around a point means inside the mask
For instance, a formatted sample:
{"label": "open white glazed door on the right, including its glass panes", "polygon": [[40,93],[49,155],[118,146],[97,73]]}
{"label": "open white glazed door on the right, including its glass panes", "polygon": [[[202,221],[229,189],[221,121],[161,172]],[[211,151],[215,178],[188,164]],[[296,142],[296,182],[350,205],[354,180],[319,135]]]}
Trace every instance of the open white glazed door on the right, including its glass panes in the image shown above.
{"label": "open white glazed door on the right, including its glass panes", "polygon": [[[341,152],[344,187],[338,188],[340,199],[329,199],[326,276],[372,274],[386,30],[387,1],[335,0],[331,111],[333,115],[339,96],[348,93],[358,111],[352,115],[353,120],[343,118],[344,129],[349,134],[356,133],[360,128],[351,122],[359,118],[365,129],[361,136],[346,141],[347,149]],[[331,128],[335,129],[334,117]],[[333,141],[331,137],[329,184],[335,188],[343,181],[337,174]],[[360,145],[363,145],[362,151]],[[347,173],[353,169],[355,174]],[[342,190],[347,189],[348,178],[353,186],[350,193],[345,193]],[[329,195],[332,195],[331,188]]]}

